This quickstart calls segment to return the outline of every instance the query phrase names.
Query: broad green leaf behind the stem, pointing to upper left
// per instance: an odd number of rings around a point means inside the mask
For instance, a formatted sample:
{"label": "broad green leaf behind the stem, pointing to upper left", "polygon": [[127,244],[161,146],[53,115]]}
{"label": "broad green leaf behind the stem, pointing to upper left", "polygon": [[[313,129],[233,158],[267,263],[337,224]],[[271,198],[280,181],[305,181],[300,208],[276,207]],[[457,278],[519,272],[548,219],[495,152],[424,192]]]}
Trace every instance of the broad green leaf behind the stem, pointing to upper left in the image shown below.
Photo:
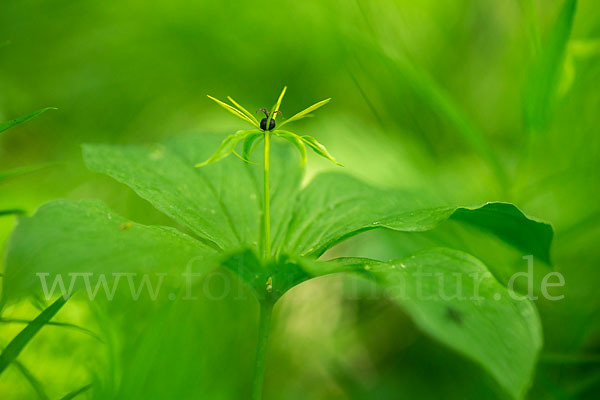
{"label": "broad green leaf behind the stem, pointing to upper left", "polygon": [[[221,249],[258,246],[262,209],[262,168],[230,158],[202,168],[220,135],[190,135],[158,147],[84,146],[94,171],[130,186],[158,210]],[[275,231],[289,215],[290,199],[303,171],[289,146],[271,152],[271,224]]]}

